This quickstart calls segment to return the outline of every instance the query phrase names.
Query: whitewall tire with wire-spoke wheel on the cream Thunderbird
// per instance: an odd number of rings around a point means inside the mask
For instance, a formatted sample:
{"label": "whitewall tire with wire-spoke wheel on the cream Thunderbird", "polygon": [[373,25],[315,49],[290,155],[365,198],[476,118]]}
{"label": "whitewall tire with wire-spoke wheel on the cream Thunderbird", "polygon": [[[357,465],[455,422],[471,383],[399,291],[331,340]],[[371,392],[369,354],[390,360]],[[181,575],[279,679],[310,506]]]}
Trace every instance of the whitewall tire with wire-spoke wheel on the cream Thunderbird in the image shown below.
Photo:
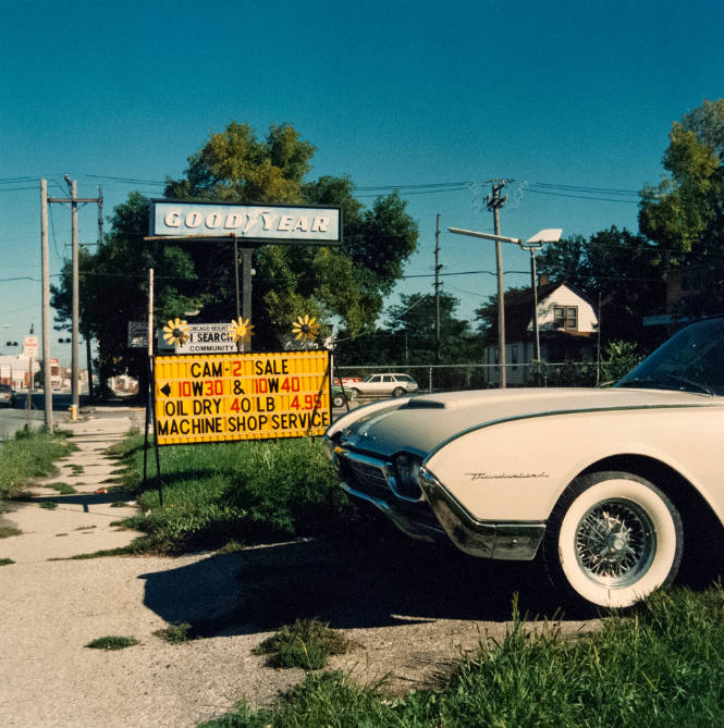
{"label": "whitewall tire with wire-spoke wheel on the cream Thunderbird", "polygon": [[543,542],[549,576],[586,602],[627,607],[676,577],[682,518],[653,483],[627,472],[577,478],[555,505]]}

